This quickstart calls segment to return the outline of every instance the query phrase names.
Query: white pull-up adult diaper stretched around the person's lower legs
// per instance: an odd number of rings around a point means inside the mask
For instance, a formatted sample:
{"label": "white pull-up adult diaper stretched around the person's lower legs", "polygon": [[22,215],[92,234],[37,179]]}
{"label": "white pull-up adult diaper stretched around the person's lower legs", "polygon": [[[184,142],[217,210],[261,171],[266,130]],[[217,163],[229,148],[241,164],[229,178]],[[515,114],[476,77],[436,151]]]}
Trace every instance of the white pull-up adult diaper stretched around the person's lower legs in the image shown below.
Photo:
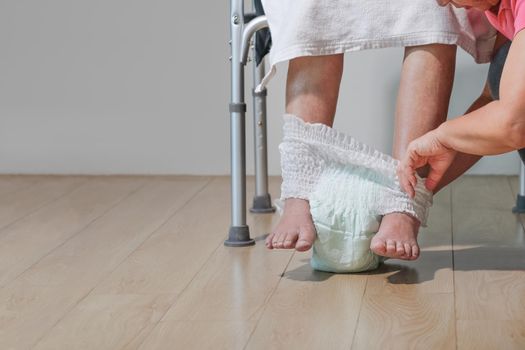
{"label": "white pull-up adult diaper stretched around the person's lower legs", "polygon": [[419,178],[416,196],[401,190],[398,161],[324,124],[285,115],[279,146],[281,200],[308,200],[317,230],[311,265],[328,272],[378,267],[370,241],[385,214],[407,213],[426,225],[432,193]]}

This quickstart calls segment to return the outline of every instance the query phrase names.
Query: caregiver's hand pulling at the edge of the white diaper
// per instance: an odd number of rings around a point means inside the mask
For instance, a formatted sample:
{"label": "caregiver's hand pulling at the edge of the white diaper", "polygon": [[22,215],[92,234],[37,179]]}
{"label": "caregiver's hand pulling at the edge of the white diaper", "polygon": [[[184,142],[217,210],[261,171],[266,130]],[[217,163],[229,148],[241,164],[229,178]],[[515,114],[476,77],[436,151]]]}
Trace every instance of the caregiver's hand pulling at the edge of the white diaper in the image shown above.
{"label": "caregiver's hand pulling at the edge of the white diaper", "polygon": [[425,186],[432,191],[456,156],[455,150],[440,141],[439,134],[437,128],[412,141],[397,168],[401,187],[412,198],[416,195],[416,169],[427,164],[430,166]]}

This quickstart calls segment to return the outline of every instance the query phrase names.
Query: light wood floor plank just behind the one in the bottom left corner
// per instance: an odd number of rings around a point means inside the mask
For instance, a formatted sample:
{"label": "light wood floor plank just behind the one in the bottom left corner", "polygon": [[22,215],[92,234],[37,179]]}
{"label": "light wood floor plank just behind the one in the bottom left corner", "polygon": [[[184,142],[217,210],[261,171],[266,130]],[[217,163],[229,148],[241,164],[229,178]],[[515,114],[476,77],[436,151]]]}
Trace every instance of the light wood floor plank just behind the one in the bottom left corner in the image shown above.
{"label": "light wood floor plank just behind the one in the bottom left corner", "polygon": [[69,194],[0,231],[0,286],[5,286],[144,180],[93,178]]}

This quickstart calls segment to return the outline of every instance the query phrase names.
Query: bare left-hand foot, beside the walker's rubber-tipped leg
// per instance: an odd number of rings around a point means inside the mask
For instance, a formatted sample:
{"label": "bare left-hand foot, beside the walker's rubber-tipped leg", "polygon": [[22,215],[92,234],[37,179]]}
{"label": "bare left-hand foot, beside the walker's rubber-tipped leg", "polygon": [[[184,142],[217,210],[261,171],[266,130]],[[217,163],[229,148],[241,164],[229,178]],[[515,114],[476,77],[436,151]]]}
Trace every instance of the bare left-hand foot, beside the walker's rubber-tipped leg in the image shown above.
{"label": "bare left-hand foot, beside the walker's rubber-tipped leg", "polygon": [[310,214],[310,204],[304,199],[288,198],[277,227],[266,238],[269,249],[296,249],[300,252],[312,248],[316,236]]}

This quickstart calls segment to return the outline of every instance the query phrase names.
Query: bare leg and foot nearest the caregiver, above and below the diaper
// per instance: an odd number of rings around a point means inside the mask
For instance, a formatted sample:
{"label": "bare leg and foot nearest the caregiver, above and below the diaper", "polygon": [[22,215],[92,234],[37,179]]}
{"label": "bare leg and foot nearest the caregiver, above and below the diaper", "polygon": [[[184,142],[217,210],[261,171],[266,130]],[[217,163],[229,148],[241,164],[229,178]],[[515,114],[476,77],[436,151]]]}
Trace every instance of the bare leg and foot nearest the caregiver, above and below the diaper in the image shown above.
{"label": "bare leg and foot nearest the caregiver, above and below the diaper", "polygon": [[[415,138],[447,118],[456,63],[456,46],[407,47],[401,71],[393,156],[400,159]],[[420,175],[426,175],[421,169]],[[419,222],[402,213],[385,215],[370,248],[378,255],[415,260],[419,257]]]}

